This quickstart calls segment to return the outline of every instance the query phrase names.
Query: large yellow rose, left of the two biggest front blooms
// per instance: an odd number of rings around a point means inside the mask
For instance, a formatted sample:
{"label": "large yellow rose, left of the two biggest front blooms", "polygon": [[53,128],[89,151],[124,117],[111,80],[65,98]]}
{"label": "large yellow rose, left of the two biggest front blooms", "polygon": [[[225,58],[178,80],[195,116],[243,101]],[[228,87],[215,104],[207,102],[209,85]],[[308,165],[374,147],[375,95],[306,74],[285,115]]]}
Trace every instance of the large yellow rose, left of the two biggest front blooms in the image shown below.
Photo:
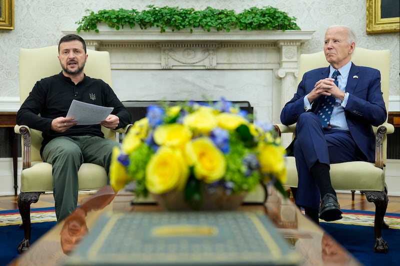
{"label": "large yellow rose, left of the two biggest front blooms", "polygon": [[183,190],[188,176],[189,170],[182,153],[161,146],[147,163],[145,185],[154,194]]}

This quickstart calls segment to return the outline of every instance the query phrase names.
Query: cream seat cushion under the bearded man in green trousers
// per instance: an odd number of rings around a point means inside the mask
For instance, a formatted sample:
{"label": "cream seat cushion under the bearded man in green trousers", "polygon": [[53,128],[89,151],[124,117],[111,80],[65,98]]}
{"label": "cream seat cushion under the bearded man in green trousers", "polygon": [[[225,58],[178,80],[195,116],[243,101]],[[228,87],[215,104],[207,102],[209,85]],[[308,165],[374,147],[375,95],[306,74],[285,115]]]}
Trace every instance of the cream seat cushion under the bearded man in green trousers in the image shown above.
{"label": "cream seat cushion under the bearded man in green trousers", "polygon": [[[96,190],[107,184],[103,167],[84,163],[78,171],[79,190]],[[21,192],[53,191],[51,164],[32,162],[30,168],[21,172]]]}

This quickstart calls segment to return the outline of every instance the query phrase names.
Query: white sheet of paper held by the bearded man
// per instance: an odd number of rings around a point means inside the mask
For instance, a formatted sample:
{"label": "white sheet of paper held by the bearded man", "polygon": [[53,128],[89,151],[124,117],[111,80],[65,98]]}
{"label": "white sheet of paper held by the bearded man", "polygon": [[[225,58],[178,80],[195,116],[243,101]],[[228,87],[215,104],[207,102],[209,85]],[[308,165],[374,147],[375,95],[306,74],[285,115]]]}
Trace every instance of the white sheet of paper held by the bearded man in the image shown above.
{"label": "white sheet of paper held by the bearded man", "polygon": [[66,117],[75,118],[74,121],[78,121],[78,125],[99,124],[107,118],[112,109],[114,108],[72,100]]}

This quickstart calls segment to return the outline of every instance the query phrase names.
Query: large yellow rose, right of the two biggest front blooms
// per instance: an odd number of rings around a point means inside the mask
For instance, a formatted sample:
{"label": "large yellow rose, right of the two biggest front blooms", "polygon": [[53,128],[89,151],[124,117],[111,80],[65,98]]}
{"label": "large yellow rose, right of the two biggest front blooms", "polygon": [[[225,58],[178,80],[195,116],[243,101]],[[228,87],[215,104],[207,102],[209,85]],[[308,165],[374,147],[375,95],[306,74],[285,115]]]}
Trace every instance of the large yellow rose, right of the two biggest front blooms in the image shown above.
{"label": "large yellow rose, right of the two biggest front blooms", "polygon": [[205,183],[221,179],[226,171],[226,160],[223,153],[206,137],[194,139],[187,143],[186,159],[194,166],[194,176]]}

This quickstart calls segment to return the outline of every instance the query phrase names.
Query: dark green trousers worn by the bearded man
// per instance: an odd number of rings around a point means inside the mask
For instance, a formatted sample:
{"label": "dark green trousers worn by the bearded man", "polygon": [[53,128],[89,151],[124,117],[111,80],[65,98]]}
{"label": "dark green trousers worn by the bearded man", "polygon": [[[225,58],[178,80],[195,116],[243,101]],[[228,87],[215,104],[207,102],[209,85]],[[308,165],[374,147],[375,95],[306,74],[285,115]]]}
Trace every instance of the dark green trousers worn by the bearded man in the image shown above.
{"label": "dark green trousers worn by the bearded man", "polygon": [[93,163],[104,167],[108,174],[112,147],[116,141],[92,136],[58,137],[43,150],[43,161],[52,165],[53,197],[57,221],[76,209],[80,165]]}

